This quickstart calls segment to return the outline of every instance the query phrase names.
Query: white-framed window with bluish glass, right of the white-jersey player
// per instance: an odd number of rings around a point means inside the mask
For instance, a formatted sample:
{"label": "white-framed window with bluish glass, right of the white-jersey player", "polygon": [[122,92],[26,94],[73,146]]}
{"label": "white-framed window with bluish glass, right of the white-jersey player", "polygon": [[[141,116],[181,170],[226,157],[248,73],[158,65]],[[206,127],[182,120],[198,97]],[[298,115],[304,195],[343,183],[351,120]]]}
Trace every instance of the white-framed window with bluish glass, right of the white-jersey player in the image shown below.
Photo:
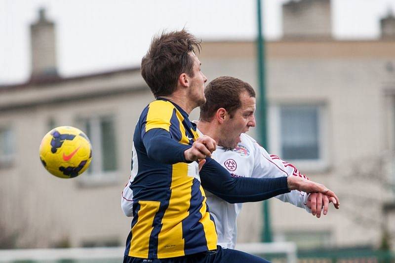
{"label": "white-framed window with bluish glass, right of the white-jersey player", "polygon": [[276,105],[270,108],[270,152],[302,170],[327,166],[326,114],[323,105]]}

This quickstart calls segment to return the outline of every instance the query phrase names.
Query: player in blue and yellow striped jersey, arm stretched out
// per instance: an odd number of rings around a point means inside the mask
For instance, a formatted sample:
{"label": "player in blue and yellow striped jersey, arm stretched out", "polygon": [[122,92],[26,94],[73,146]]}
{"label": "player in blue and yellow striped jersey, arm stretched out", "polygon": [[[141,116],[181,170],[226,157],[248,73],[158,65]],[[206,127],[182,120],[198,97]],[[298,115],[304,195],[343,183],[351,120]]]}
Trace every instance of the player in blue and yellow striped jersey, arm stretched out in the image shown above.
{"label": "player in blue and yellow striped jersey, arm stretched out", "polygon": [[[199,137],[188,114],[205,102],[197,39],[186,31],[153,39],[141,64],[156,101],[141,113],[133,136],[133,220],[124,262],[266,262],[217,247],[204,190],[232,203],[264,200],[299,189],[336,195],[297,177],[232,177],[214,161],[216,142]],[[205,159],[198,171],[197,160]],[[204,162],[204,161],[203,161]]]}

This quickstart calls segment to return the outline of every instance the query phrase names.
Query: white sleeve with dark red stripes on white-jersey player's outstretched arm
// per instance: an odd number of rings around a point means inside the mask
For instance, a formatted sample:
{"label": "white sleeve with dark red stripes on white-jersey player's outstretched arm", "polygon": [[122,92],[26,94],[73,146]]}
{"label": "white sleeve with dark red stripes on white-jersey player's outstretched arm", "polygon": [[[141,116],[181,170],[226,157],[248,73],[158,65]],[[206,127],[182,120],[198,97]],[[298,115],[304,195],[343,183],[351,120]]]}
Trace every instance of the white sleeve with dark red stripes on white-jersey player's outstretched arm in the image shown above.
{"label": "white sleeve with dark red stripes on white-jersey player's outstretched arm", "polygon": [[[296,167],[290,163],[281,160],[276,155],[269,155],[269,153],[254,141],[255,160],[252,177],[254,178],[276,178],[299,176],[309,180],[305,175],[302,175]],[[292,190],[288,193],[277,195],[276,198],[287,203],[291,203],[297,207],[304,208],[311,213],[311,209],[307,206],[307,198],[309,194],[303,191]]]}

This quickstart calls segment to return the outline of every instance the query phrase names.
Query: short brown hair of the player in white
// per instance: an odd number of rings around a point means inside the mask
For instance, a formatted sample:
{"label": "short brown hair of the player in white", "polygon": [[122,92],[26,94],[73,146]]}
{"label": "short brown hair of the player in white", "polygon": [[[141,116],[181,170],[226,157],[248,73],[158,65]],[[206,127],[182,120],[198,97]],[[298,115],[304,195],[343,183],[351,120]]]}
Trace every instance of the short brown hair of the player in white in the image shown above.
{"label": "short brown hair of the player in white", "polygon": [[210,81],[204,90],[206,103],[200,106],[200,120],[210,122],[219,108],[224,108],[232,118],[241,107],[240,95],[243,92],[255,98],[251,85],[236,77],[220,76]]}

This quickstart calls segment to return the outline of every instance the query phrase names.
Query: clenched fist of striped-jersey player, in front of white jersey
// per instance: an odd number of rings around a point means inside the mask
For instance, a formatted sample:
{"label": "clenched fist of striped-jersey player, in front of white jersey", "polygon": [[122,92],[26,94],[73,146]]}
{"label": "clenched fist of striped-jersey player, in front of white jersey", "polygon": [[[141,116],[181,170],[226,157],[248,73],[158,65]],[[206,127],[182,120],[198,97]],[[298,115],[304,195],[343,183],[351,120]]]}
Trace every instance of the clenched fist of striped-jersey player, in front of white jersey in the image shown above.
{"label": "clenched fist of striped-jersey player, in front of white jersey", "polygon": [[187,161],[197,161],[211,157],[211,153],[217,148],[217,143],[210,137],[204,135],[197,138],[192,147],[184,151]]}

